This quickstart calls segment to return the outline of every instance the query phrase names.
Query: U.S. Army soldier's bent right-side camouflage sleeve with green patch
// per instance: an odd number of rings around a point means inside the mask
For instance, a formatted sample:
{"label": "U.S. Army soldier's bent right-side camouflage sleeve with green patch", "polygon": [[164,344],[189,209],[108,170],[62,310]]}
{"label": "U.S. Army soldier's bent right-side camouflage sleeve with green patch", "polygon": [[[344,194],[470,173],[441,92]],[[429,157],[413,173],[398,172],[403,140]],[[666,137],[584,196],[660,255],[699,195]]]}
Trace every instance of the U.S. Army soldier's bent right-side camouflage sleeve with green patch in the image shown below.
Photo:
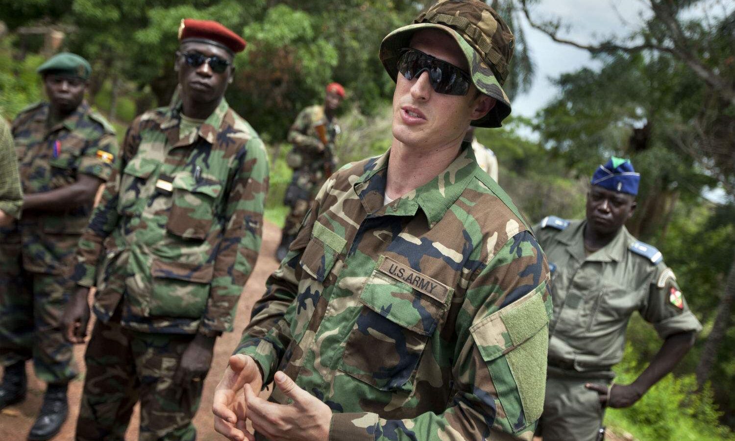
{"label": "U.S. Army soldier's bent right-side camouflage sleeve with green patch", "polygon": [[454,325],[452,395],[441,414],[335,413],[330,440],[531,440],[543,409],[548,265],[520,232],[470,282]]}

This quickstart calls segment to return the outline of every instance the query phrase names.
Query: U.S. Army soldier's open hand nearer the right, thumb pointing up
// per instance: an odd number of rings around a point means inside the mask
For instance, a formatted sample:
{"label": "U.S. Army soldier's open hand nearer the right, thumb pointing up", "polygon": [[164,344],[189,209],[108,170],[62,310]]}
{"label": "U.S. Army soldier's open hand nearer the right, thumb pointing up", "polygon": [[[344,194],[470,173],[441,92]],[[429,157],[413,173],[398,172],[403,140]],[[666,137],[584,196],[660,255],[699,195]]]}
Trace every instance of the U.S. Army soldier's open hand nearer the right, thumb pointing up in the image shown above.
{"label": "U.S. Army soldier's open hand nearer the right, thumb pointing up", "polygon": [[253,429],[268,440],[326,441],[329,439],[331,409],[320,399],[298,387],[285,373],[274,376],[276,387],[293,400],[293,404],[275,404],[260,398],[245,385],[248,419]]}

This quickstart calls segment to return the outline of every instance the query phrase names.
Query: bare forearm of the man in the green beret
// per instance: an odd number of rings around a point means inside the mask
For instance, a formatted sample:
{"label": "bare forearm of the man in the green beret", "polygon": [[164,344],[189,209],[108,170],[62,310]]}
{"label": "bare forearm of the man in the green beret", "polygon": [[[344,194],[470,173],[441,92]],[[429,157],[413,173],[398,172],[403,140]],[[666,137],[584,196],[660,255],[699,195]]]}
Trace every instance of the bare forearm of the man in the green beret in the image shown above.
{"label": "bare forearm of the man in the green beret", "polygon": [[43,193],[23,196],[24,211],[63,211],[94,201],[102,180],[90,175],[80,175],[71,185]]}

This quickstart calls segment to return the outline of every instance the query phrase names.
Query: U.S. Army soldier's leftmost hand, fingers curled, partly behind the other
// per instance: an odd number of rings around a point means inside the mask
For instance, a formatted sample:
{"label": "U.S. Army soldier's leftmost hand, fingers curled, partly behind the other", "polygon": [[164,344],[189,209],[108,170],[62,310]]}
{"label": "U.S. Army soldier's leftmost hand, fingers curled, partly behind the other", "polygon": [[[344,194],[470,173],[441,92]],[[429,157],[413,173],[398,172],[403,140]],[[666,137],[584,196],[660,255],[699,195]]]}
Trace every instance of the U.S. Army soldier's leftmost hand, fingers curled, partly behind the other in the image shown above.
{"label": "U.S. Army soldier's leftmost hand, fingers curled, partly behind the other", "polygon": [[260,369],[251,356],[233,355],[215,389],[215,398],[212,402],[215,430],[232,441],[255,439],[253,434],[245,429],[247,416],[243,389],[245,384],[249,384],[251,390],[260,390],[263,384]]}

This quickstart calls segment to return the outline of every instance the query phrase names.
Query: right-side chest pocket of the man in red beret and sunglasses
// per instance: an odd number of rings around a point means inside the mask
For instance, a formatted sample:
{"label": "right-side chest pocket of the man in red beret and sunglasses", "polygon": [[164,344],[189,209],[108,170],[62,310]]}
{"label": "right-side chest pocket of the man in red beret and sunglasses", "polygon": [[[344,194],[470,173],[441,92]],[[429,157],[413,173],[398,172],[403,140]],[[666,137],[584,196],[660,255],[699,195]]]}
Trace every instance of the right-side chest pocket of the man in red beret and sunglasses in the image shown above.
{"label": "right-side chest pocket of the man in red beret and sunglasses", "polygon": [[194,179],[189,172],[173,176],[173,200],[166,230],[186,239],[204,239],[212,229],[215,203],[222,185],[212,179]]}

